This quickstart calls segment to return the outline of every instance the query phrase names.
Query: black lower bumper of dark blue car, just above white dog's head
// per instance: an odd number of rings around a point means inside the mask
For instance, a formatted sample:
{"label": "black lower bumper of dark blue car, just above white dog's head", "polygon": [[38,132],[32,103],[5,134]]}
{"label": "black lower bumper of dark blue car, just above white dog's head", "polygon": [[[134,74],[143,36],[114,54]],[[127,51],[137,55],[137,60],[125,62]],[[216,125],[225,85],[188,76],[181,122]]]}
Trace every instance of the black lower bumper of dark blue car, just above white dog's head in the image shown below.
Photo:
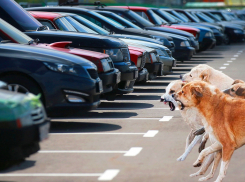
{"label": "black lower bumper of dark blue car, just above white dog's head", "polygon": [[178,47],[176,51],[173,53],[173,57],[176,60],[184,61],[190,60],[195,52],[195,48],[193,47]]}

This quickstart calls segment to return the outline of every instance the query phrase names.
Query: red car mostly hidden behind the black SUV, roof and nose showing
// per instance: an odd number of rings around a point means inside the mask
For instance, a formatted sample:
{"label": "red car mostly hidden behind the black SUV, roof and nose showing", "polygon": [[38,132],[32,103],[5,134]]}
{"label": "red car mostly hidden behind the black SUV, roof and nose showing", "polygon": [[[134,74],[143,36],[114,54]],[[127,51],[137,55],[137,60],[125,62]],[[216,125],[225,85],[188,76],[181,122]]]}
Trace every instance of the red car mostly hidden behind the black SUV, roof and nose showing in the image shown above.
{"label": "red car mostly hidden behind the black SUV, roof and nose showing", "polygon": [[[48,22],[49,24],[52,24],[52,26],[55,29],[58,29],[58,30],[96,33],[90,28],[87,28],[84,25],[81,25],[79,22],[77,22],[76,20],[74,20],[72,17],[70,17],[67,14],[60,14],[60,13],[53,13],[53,12],[39,12],[39,11],[34,11],[34,12],[29,11],[29,13],[33,17],[35,17],[37,20],[41,20],[41,23],[47,24]],[[139,56],[138,52],[135,52],[134,50],[132,51],[129,50],[129,53],[130,53],[130,58],[132,62],[134,62],[136,66],[138,65],[137,62],[143,62],[143,60],[141,60],[143,57],[142,55]],[[148,71],[144,69],[143,67],[142,66],[138,67],[138,78],[136,79],[136,81],[143,81],[143,80],[148,79]]]}

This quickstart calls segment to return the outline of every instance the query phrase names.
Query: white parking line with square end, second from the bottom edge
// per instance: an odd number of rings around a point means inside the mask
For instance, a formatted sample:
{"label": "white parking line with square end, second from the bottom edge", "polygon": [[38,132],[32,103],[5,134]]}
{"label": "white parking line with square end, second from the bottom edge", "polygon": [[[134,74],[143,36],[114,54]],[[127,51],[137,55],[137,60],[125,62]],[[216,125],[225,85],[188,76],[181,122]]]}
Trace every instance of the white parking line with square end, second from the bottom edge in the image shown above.
{"label": "white parking line with square end, second from the bottom edge", "polygon": [[128,151],[110,151],[110,150],[41,150],[41,154],[124,154],[124,156],[136,156],[140,153],[142,147],[132,147]]}

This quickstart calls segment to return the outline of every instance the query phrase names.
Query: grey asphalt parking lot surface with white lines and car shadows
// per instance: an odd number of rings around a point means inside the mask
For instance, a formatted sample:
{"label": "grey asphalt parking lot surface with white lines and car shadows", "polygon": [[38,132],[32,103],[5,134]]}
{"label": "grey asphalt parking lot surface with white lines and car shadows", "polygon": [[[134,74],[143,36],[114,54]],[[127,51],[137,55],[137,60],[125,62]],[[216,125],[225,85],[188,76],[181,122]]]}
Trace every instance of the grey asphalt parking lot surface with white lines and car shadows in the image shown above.
{"label": "grey asphalt parking lot surface with white lines and car shadows", "polygon": [[[192,166],[197,146],[185,161],[176,160],[190,129],[178,110],[172,112],[159,102],[160,96],[170,81],[198,64],[244,80],[244,56],[244,43],[217,46],[178,62],[171,75],[136,84],[131,94],[102,100],[98,109],[83,116],[53,119],[50,137],[41,143],[39,153],[2,171],[0,181],[198,181],[199,177],[189,177],[199,169]],[[234,153],[224,182],[244,181],[244,152],[241,148]],[[218,171],[209,181],[217,175]]]}

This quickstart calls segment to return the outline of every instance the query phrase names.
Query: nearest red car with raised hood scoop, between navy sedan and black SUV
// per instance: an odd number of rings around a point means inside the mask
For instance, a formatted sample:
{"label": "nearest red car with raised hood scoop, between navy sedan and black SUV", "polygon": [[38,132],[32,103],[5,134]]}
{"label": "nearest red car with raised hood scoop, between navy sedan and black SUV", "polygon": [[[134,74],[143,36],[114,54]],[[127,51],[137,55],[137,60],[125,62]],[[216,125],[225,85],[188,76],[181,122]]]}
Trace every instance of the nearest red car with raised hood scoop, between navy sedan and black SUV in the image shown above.
{"label": "nearest red car with raised hood scoop, between navy sedan and black SUV", "polygon": [[105,94],[108,99],[115,97],[117,84],[121,80],[121,72],[114,68],[113,62],[107,54],[70,48],[69,45],[72,42],[55,42],[52,44],[38,43],[38,40],[33,40],[0,18],[0,41],[3,39],[4,41],[9,40],[13,43],[62,51],[88,59],[97,66],[99,77],[103,84],[102,93]]}

